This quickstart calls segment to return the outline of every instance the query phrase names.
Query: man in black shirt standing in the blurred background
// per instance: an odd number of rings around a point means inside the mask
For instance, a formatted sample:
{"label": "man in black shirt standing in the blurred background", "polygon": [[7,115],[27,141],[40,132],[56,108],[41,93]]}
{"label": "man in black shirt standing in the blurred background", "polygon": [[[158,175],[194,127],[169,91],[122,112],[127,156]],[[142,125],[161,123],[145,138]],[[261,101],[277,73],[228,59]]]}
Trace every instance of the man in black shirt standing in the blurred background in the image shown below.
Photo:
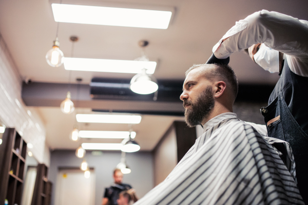
{"label": "man in black shirt standing in the blurred background", "polygon": [[123,173],[120,169],[115,169],[113,171],[114,183],[105,189],[104,198],[102,200],[102,205],[118,205],[117,200],[119,199],[119,194],[123,191],[127,191],[130,198],[136,202],[138,198],[136,197],[135,190],[132,189],[130,185],[122,183]]}

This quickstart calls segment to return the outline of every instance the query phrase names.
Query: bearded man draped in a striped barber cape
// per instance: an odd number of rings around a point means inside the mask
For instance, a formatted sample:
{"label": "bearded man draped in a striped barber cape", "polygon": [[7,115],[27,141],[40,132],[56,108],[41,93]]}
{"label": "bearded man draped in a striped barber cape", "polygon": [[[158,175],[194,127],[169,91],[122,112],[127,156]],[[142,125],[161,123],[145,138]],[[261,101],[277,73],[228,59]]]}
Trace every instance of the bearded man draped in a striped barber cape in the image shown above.
{"label": "bearded man draped in a striped barber cape", "polygon": [[228,65],[187,70],[180,96],[185,121],[202,125],[203,134],[168,177],[135,204],[304,204],[290,146],[236,117],[237,92]]}

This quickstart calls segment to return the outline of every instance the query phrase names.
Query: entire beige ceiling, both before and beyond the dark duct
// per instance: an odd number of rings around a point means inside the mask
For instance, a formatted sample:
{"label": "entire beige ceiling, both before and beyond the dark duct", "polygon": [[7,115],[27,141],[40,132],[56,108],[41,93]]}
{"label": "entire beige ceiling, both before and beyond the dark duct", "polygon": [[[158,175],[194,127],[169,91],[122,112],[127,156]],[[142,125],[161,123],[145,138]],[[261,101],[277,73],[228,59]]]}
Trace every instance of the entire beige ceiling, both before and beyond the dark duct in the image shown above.
{"label": "entire beige ceiling, both before and beyond the dark duct", "polygon": [[[68,1],[68,0],[67,0]],[[60,1],[59,1],[60,2]],[[70,0],[70,3],[74,0]],[[62,1],[67,3],[66,0]],[[101,4],[104,1],[76,0],[82,4]],[[60,23],[60,49],[71,56],[69,37],[76,35],[74,57],[133,60],[141,56],[139,40],[146,39],[146,54],[158,61],[153,74],[158,79],[184,79],[184,72],[193,64],[202,64],[211,54],[211,48],[235,22],[261,10],[278,11],[299,19],[308,19],[308,1],[293,0],[119,0],[109,3],[174,7],[174,18],[166,30],[100,25]],[[173,15],[173,14],[172,14]],[[69,71],[63,66],[50,67],[45,60],[55,38],[51,4],[47,0],[0,0],[0,33],[2,34],[23,79],[45,83],[67,83]],[[252,63],[244,53],[230,57],[240,83],[275,84],[277,74],[269,74]],[[133,74],[72,71],[72,78],[83,78],[89,84],[92,77],[131,78]],[[125,105],[124,105],[125,106]],[[73,115],[64,115],[59,107],[37,107],[46,126],[46,140],[52,149],[75,149],[68,139],[74,124]],[[85,112],[90,112],[85,109]],[[144,115],[141,124],[134,126],[143,150],[151,150],[177,117]],[[182,118],[181,118],[182,119]],[[183,119],[182,119],[183,120]],[[123,130],[127,125],[88,125],[94,130]]]}

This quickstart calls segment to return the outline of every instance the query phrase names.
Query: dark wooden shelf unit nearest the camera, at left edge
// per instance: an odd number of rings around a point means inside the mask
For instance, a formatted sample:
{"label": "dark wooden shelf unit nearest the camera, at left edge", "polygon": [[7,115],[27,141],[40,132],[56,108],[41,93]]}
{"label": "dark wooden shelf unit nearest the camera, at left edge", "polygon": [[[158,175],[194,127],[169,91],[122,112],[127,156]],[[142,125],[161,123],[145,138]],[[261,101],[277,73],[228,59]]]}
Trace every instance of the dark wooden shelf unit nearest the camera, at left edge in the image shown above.
{"label": "dark wooden shelf unit nearest the camera, at left edge", "polygon": [[14,128],[6,128],[0,145],[0,204],[21,204],[27,143]]}

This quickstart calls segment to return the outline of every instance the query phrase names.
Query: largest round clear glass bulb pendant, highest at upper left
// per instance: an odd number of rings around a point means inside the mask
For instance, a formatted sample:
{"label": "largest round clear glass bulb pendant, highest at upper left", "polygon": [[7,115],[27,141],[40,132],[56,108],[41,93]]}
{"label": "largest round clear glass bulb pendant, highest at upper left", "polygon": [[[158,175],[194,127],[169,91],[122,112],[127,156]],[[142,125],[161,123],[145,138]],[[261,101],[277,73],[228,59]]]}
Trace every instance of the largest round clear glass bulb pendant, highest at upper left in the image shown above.
{"label": "largest round clear glass bulb pendant, highest at upper left", "polygon": [[59,67],[63,64],[64,55],[63,52],[60,50],[59,46],[60,42],[59,39],[56,37],[53,41],[52,49],[50,49],[45,56],[49,66]]}

